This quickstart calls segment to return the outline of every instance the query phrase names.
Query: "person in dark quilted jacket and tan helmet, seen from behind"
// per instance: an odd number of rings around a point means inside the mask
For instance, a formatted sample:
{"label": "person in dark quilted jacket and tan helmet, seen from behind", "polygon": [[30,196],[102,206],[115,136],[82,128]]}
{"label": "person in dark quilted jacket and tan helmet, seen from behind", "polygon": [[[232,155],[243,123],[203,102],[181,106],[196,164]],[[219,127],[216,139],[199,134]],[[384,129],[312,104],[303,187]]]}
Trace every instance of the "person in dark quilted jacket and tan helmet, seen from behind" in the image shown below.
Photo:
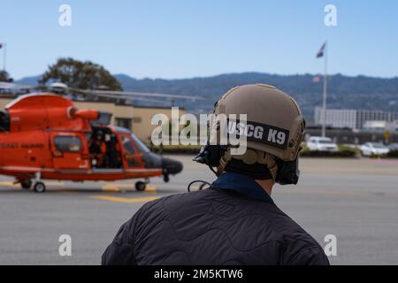
{"label": "person in dark quilted jacket and tan helmet, seen from behind", "polygon": [[[329,264],[318,242],[271,198],[275,182],[298,180],[304,120],[293,98],[270,86],[241,86],[213,113],[247,114],[241,134],[248,149],[234,155],[210,138],[195,160],[218,179],[201,191],[143,205],[121,226],[103,264]],[[236,123],[229,123],[232,134]],[[212,120],[210,136],[219,138],[220,131]]]}

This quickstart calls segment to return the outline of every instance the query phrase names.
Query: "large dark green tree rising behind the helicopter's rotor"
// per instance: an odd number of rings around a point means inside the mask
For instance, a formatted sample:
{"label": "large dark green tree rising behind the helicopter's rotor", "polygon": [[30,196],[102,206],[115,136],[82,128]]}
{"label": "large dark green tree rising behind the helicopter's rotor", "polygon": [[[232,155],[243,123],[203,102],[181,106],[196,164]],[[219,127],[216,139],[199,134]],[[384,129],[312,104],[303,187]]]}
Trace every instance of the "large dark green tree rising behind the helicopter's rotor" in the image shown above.
{"label": "large dark green tree rising behind the helicopter's rotor", "polygon": [[123,90],[118,80],[102,65],[90,61],[78,61],[71,57],[59,58],[39,80],[41,85],[50,81],[60,81],[69,88]]}

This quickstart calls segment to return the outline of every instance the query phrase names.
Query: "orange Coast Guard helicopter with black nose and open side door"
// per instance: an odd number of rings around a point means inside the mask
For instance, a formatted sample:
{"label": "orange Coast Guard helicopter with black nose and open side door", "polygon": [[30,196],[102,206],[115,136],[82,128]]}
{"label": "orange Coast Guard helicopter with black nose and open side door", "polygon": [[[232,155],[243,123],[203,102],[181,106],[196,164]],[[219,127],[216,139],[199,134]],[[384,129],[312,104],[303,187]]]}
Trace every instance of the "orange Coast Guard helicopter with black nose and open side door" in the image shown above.
{"label": "orange Coast Guard helicopter with black nose and open side door", "polygon": [[51,93],[19,96],[0,111],[0,174],[22,188],[46,190],[42,180],[137,181],[182,171],[182,164],[158,156],[130,131],[110,126],[111,114],[76,109]]}

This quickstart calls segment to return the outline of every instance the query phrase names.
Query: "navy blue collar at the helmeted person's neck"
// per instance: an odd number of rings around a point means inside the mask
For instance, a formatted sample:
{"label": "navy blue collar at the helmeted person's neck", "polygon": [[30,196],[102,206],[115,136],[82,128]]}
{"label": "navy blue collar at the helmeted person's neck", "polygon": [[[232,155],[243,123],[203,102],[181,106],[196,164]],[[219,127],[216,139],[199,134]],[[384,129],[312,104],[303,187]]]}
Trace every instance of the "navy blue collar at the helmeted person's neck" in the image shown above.
{"label": "navy blue collar at the helmeted person's neck", "polygon": [[257,201],[273,203],[268,195],[253,178],[235,172],[222,173],[217,180],[211,184],[215,189],[233,190],[241,195]]}

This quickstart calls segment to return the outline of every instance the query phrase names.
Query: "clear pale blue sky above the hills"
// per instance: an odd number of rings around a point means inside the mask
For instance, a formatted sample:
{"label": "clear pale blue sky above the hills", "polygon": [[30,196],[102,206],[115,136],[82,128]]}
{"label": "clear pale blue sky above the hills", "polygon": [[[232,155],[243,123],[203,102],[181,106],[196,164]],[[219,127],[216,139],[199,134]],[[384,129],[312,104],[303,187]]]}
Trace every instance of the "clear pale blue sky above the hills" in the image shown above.
{"label": "clear pale blue sky above the hills", "polygon": [[[60,4],[71,5],[72,27],[58,25]],[[326,4],[337,7],[337,27],[325,27]],[[325,40],[330,73],[398,76],[398,1],[0,2],[0,42],[15,79],[57,57],[136,78],[319,73],[315,54]]]}

